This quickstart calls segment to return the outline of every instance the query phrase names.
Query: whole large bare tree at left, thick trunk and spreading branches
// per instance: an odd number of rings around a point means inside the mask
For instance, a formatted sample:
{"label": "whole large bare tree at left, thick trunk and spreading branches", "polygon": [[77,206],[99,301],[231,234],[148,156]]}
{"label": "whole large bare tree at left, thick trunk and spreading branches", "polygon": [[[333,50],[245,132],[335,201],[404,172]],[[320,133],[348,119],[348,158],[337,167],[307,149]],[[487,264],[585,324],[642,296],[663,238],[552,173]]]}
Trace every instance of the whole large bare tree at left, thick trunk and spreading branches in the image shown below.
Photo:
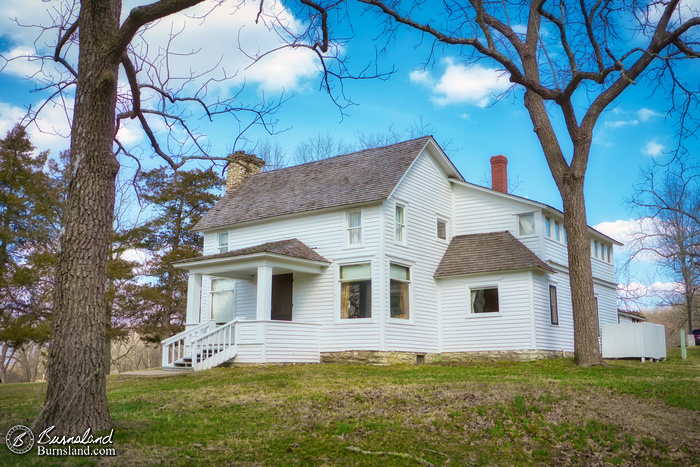
{"label": "whole large bare tree at left, thick trunk and spreading branches", "polygon": [[[71,105],[66,104],[72,98],[74,101],[48,387],[38,420],[66,436],[82,434],[88,428],[102,431],[112,425],[103,343],[118,157],[133,159],[137,171],[141,159],[152,155],[173,169],[190,160],[219,159],[223,164],[224,157],[208,153],[189,117],[196,112],[205,119],[228,114],[237,120],[241,131],[254,124],[270,129],[274,123],[270,115],[281,102],[262,100],[248,107],[239,104],[240,92],[226,100],[212,97],[211,85],[228,76],[208,78],[207,70],[171,75],[168,64],[176,52],[171,48],[177,32],[172,32],[167,45],[155,54],[147,40],[139,39],[154,22],[203,2],[158,0],[133,8],[122,21],[122,0],[62,1],[48,6],[54,23],[37,26],[40,38],[31,58],[39,60],[42,69],[33,78],[52,94],[43,106],[31,109],[30,119],[52,102],[64,104],[69,114]],[[211,9],[221,3],[223,0],[213,2]],[[48,54],[43,50],[47,41],[53,44]],[[184,55],[196,53],[187,50]],[[120,83],[120,73],[126,77],[125,83]],[[244,115],[249,118],[244,119]],[[150,143],[148,151],[135,152],[119,139],[119,129],[128,121],[138,122]]]}

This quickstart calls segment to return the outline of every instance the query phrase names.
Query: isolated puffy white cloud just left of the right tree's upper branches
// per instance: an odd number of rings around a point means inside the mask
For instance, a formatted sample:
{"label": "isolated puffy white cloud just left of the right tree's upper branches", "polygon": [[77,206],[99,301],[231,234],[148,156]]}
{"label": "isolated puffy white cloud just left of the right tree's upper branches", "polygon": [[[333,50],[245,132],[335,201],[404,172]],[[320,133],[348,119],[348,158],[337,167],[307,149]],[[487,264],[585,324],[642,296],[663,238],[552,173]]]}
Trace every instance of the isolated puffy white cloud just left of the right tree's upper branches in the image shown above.
{"label": "isolated puffy white cloud just left of the right tree's upper branches", "polygon": [[507,75],[496,69],[460,65],[452,58],[443,63],[445,71],[438,79],[427,71],[414,70],[409,75],[412,82],[428,87],[433,93],[431,100],[440,106],[466,103],[486,107],[511,86]]}

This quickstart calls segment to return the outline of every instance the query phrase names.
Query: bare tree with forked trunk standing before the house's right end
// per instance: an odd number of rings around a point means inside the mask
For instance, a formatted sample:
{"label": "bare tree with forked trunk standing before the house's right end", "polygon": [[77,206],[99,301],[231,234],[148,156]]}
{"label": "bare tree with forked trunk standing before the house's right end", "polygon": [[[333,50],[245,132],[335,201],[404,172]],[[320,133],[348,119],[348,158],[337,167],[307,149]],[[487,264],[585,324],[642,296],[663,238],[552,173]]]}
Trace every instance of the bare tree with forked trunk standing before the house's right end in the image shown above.
{"label": "bare tree with forked trunk standing before the house's right end", "polygon": [[[327,50],[338,32],[334,28],[343,34],[351,1],[300,0],[310,27],[290,46],[301,41]],[[564,206],[575,358],[581,366],[603,364],[583,195],[593,131],[601,114],[634,84],[670,96],[681,117],[679,137],[696,131],[698,95],[691,83],[697,77],[684,81],[679,64],[700,56],[697,9],[680,0],[358,2],[376,13],[388,41],[398,28],[432,41],[426,63],[451,50],[469,66],[480,60],[495,64],[513,90],[522,91],[516,98],[522,98]],[[327,90],[333,92],[331,86]],[[553,124],[557,118],[565,122],[564,131]]]}

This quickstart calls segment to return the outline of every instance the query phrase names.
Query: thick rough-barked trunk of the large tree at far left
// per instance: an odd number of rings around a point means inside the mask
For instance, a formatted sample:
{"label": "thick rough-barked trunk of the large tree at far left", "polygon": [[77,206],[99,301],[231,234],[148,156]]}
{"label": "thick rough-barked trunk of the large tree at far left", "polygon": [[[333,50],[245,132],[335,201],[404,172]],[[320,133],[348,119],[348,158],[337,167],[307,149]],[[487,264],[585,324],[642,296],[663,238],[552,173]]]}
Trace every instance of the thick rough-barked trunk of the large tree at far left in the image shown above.
{"label": "thick rough-barked trunk of the large tree at far left", "polygon": [[78,435],[112,426],[107,407],[105,277],[115,178],[120,0],[82,2],[68,203],[57,259],[46,403],[40,423]]}

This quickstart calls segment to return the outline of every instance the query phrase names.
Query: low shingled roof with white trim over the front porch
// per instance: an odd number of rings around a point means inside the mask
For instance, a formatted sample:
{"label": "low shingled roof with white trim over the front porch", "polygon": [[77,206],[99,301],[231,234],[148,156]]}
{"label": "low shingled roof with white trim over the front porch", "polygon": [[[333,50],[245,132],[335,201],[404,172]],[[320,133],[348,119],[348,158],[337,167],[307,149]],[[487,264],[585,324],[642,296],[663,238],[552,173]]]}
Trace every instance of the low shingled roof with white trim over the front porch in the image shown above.
{"label": "low shingled roof with white trim over the front porch", "polygon": [[320,274],[329,264],[330,261],[296,238],[173,262],[173,266],[190,273],[235,279],[250,279],[260,266],[273,267],[275,274]]}

